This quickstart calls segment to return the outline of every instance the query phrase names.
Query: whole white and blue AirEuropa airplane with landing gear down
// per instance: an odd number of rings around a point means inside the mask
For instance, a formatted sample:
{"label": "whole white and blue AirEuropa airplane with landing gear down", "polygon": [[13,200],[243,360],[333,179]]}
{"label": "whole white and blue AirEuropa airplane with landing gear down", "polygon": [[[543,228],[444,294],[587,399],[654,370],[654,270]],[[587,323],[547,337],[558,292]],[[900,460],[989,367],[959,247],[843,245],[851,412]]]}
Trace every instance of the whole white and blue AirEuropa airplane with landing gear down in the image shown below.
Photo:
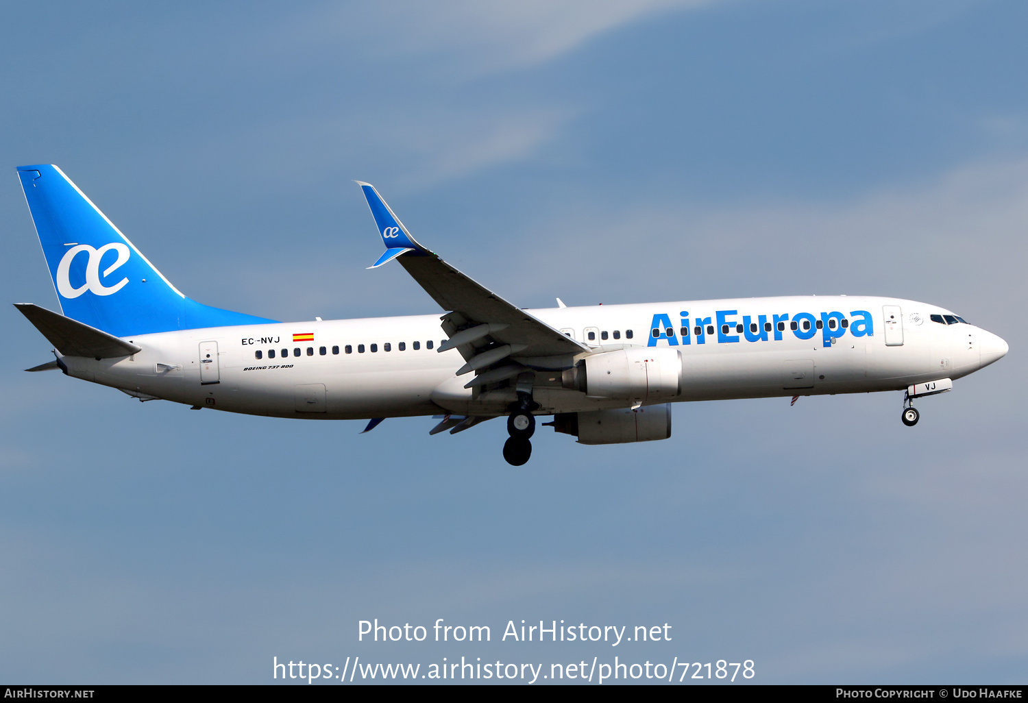
{"label": "whole white and blue AirEuropa airplane with landing gear down", "polygon": [[685,401],[951,391],[1007,351],[951,310],[872,296],[786,296],[522,309],[411,236],[358,181],[386,251],[444,314],[282,323],[179,292],[59,168],[17,166],[60,312],[15,307],[52,344],[28,371],[140,401],[302,419],[433,415],[455,434],[507,418],[524,465],[538,416],[581,444],[667,439]]}

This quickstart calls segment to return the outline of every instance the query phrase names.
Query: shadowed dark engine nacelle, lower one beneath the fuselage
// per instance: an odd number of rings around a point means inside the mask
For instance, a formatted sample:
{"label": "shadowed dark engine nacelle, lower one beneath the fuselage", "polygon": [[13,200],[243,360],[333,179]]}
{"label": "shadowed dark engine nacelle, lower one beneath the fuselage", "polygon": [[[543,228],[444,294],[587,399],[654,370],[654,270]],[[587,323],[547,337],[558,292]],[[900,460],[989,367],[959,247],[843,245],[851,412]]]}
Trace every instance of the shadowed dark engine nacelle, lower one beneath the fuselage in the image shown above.
{"label": "shadowed dark engine nacelle, lower one beneath the fuselage", "polygon": [[646,405],[635,410],[565,412],[553,416],[553,429],[579,438],[580,444],[651,442],[671,436],[671,404]]}

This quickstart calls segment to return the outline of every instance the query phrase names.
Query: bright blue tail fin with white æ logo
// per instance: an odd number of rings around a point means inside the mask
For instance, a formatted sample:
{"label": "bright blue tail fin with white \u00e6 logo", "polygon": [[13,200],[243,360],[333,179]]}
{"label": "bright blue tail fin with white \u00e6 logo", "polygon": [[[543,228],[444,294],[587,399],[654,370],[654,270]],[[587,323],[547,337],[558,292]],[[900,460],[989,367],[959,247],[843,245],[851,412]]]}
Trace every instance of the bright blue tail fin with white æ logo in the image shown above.
{"label": "bright blue tail fin with white \u00e6 logo", "polygon": [[116,337],[274,322],[184,296],[56,165],[17,175],[66,317]]}

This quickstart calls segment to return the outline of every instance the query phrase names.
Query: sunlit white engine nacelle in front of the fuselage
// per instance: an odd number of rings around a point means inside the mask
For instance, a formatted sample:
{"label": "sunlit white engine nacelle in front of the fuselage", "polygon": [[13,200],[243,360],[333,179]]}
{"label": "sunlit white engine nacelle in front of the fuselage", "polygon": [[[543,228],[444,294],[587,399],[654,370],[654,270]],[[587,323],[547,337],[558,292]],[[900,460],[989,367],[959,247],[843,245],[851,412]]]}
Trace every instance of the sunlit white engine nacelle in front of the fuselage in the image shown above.
{"label": "sunlit white engine nacelle in front of the fuselage", "polygon": [[669,400],[682,393],[682,354],[667,346],[593,354],[564,371],[562,381],[587,396],[632,403]]}

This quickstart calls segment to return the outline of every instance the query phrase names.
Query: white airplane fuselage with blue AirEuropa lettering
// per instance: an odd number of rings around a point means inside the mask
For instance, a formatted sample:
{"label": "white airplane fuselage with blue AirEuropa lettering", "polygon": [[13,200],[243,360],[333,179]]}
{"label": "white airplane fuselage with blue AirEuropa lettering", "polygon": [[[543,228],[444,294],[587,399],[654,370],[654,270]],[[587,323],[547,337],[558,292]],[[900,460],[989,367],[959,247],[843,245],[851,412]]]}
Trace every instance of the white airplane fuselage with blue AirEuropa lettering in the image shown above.
{"label": "white airplane fuselage with blue AirEuropa lettering", "polygon": [[[675,346],[682,391],[673,401],[902,390],[959,378],[1006,350],[999,337],[974,325],[931,321],[949,310],[894,298],[792,296],[530,312],[600,351]],[[439,321],[428,314],[164,332],[124,337],[142,347],[128,358],[63,362],[72,376],[143,399],[230,412],[310,419],[504,414],[514,390],[466,390],[474,374],[455,376],[464,359],[456,350],[437,351],[445,338]],[[818,322],[834,329],[818,329]],[[537,371],[537,414],[627,407],[562,387],[554,369]]]}

